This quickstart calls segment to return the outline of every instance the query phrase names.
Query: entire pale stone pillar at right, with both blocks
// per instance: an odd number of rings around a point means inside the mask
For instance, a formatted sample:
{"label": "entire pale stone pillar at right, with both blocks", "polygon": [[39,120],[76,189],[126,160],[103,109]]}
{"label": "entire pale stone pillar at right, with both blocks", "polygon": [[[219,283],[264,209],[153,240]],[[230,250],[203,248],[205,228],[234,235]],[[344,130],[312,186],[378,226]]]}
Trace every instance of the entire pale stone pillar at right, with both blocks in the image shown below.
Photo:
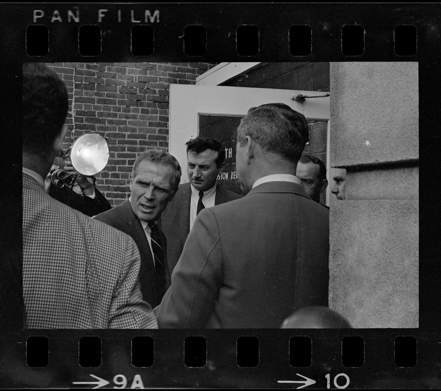
{"label": "entire pale stone pillar at right, with both blocks", "polygon": [[[331,63],[330,307],[353,327],[418,327],[418,63]],[[334,197],[334,195],[331,195]]]}

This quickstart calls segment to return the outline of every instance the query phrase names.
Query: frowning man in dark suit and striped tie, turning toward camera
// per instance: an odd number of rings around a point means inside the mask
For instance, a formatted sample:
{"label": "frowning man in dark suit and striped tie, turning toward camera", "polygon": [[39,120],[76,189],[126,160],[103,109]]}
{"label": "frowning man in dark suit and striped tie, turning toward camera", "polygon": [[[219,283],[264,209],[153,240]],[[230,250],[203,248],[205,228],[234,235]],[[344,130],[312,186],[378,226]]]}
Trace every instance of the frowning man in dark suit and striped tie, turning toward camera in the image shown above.
{"label": "frowning man in dark suit and striped tie, turning toward camera", "polygon": [[94,217],[134,239],[141,254],[142,297],[152,306],[161,302],[170,286],[167,242],[156,223],[175,196],[180,177],[179,163],[168,152],[151,149],[140,153],[133,164],[129,199]]}

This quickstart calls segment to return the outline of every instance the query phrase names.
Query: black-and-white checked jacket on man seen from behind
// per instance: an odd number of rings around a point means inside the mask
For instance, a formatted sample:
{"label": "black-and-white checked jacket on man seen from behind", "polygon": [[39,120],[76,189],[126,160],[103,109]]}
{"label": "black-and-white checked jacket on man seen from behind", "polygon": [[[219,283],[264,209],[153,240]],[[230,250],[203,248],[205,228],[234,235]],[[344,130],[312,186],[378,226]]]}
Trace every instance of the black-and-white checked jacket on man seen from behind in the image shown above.
{"label": "black-and-white checked jacket on man seen from behind", "polygon": [[24,328],[156,328],[133,239],[23,173]]}

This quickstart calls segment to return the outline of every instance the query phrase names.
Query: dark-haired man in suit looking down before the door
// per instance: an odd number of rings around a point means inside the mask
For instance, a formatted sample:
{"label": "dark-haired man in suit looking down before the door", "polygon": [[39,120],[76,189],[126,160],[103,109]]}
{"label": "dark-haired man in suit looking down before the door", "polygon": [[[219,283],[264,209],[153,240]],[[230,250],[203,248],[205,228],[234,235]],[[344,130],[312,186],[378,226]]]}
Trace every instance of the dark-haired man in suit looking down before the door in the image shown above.
{"label": "dark-haired man in suit looking down before the door", "polygon": [[219,141],[196,137],[186,143],[189,183],[179,186],[174,200],[161,215],[161,229],[167,238],[167,261],[170,274],[175,268],[188,233],[203,208],[223,204],[242,195],[216,183],[225,167],[225,150]]}

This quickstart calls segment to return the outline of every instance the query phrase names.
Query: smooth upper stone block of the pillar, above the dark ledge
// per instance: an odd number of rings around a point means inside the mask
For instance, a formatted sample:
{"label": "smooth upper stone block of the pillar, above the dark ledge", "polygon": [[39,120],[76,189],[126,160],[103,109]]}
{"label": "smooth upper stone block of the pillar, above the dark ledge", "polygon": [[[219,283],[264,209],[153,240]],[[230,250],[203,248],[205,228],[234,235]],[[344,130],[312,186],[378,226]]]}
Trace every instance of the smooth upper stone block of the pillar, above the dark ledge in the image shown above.
{"label": "smooth upper stone block of the pillar, above the dark ledge", "polygon": [[418,63],[331,63],[331,166],[418,159]]}

